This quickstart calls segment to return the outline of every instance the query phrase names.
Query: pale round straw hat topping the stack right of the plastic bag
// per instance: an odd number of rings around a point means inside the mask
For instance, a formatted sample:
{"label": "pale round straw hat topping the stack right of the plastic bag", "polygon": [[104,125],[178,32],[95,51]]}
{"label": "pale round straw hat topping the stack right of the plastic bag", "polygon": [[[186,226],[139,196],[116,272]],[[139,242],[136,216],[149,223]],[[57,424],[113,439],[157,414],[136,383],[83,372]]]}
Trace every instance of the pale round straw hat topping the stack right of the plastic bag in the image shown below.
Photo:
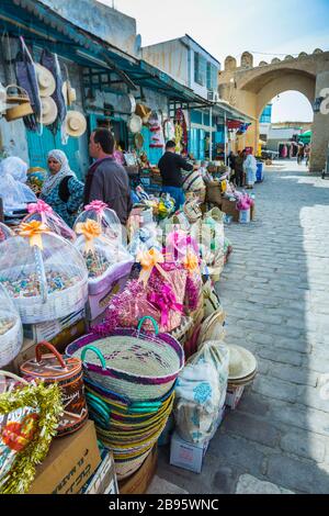
{"label": "pale round straw hat topping the stack right of the plastic bag", "polygon": [[248,349],[241,346],[229,345],[229,373],[228,381],[246,382],[253,379],[257,371],[257,360]]}

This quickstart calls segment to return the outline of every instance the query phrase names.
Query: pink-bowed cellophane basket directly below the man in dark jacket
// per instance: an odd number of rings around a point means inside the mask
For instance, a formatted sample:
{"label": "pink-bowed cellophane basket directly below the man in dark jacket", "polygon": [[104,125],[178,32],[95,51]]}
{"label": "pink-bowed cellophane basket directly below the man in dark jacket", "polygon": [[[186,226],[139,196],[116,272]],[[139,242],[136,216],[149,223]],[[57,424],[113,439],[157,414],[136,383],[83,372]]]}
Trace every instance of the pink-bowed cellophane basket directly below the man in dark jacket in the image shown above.
{"label": "pink-bowed cellophane basket directly below the man in dark jacket", "polygon": [[86,223],[88,220],[97,222],[100,227],[102,235],[110,238],[111,240],[117,240],[123,243],[122,225],[118,216],[113,210],[107,207],[102,201],[92,201],[90,204],[84,206],[84,211],[80,213],[75,223],[75,232],[77,233],[77,225],[79,223]]}

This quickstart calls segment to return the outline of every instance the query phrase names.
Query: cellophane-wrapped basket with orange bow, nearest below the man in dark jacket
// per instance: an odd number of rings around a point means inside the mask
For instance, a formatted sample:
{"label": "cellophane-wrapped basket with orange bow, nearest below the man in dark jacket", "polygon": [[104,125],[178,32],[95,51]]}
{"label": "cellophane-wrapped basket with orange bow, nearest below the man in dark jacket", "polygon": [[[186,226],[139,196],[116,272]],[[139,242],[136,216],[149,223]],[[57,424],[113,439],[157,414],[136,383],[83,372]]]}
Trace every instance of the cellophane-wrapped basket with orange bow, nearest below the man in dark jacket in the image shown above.
{"label": "cellophane-wrapped basket with orange bow, nearest below the man in dark jacket", "polygon": [[134,258],[118,240],[111,240],[102,234],[98,222],[87,218],[76,224],[79,235],[75,247],[81,253],[89,277],[89,293],[97,294],[113,282],[113,274],[129,273]]}

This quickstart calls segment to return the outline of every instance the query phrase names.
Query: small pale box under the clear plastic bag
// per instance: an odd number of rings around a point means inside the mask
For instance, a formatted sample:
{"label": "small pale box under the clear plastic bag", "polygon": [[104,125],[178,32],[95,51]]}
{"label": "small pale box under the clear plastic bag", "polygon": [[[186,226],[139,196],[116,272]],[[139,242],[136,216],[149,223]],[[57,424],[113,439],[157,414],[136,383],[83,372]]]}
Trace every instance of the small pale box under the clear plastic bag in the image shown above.
{"label": "small pale box under the clear plastic bag", "polygon": [[184,470],[201,473],[204,456],[207,451],[209,441],[201,445],[188,442],[175,431],[171,438],[170,463]]}

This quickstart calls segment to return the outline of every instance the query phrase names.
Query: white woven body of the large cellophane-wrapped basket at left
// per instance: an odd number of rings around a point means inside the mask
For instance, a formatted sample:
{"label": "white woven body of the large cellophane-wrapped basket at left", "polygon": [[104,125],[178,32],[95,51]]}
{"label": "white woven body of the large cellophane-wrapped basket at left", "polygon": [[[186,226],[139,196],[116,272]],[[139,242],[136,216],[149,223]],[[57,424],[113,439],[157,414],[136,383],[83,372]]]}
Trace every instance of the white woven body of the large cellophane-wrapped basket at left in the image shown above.
{"label": "white woven body of the large cellophane-wrapped basket at left", "polygon": [[[1,273],[5,277],[12,270],[14,269],[2,270]],[[25,267],[24,270],[29,274],[33,268],[32,266]],[[44,323],[66,317],[67,314],[78,312],[84,307],[88,299],[88,276],[86,273],[84,278],[75,287],[47,294],[46,301],[42,295],[12,299],[20,312],[23,324]]]}

